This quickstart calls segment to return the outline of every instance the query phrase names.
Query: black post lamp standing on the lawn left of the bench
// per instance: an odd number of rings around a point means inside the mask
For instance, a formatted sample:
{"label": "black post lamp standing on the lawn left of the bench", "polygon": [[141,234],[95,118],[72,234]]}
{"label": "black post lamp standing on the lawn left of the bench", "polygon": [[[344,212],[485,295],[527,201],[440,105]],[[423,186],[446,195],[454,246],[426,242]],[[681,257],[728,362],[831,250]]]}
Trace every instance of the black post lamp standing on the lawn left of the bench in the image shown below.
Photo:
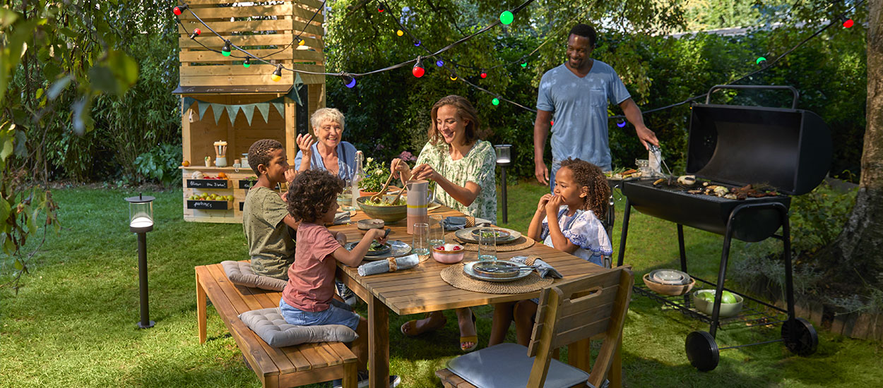
{"label": "black post lamp standing on the lawn left of the bench", "polygon": [[141,299],[140,329],[154,327],[150,320],[150,309],[147,306],[147,232],[154,230],[155,198],[138,195],[125,200],[129,203],[129,231],[138,235],[138,280]]}

